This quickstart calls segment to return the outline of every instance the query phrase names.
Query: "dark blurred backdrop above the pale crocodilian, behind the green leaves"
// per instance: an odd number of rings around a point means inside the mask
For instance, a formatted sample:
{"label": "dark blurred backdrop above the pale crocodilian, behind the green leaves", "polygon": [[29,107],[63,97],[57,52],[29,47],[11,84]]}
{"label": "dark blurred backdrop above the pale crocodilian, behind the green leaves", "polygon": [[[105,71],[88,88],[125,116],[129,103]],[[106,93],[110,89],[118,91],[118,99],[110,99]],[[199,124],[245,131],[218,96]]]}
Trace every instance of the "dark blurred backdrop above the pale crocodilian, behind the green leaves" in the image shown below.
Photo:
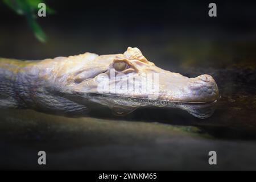
{"label": "dark blurred backdrop above the pale crocodilian, behind the green leaves", "polygon": [[255,1],[46,1],[55,14],[38,18],[48,36],[40,43],[1,2],[0,55],[44,59],[79,53],[122,53],[138,47],[160,67],[223,66],[255,57]]}

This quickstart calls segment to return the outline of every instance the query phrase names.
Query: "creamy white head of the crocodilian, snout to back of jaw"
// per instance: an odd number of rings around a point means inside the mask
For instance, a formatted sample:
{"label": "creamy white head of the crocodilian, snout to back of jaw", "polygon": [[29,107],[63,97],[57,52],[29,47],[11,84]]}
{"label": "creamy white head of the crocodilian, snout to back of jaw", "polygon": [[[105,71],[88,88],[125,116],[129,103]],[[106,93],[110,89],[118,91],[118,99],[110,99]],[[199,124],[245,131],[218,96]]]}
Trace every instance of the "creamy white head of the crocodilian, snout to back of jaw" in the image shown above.
{"label": "creamy white head of the crocodilian, snout to back of jaw", "polygon": [[140,106],[208,104],[219,97],[212,76],[188,78],[166,71],[131,47],[117,55],[70,56],[54,82],[69,100],[105,105],[121,115]]}

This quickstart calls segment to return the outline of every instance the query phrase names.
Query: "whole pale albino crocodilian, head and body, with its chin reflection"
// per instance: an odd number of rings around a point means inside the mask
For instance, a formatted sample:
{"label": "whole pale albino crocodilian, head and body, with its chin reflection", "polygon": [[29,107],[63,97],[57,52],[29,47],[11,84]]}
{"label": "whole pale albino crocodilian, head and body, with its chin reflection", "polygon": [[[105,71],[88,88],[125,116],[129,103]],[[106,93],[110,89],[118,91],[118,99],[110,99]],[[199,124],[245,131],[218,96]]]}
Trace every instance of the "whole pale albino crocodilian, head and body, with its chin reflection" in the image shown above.
{"label": "whole pale albino crocodilian, head and body, with its chin reflection", "polygon": [[[123,54],[84,53],[41,61],[0,59],[0,107],[32,108],[54,113],[87,113],[98,104],[125,115],[141,106],[179,107],[198,118],[213,113],[219,95],[209,75],[188,78],[156,67],[138,48]],[[112,80],[111,71],[123,73]],[[140,85],[147,73],[158,73],[158,97],[147,92],[100,93],[98,85]],[[117,76],[115,76],[117,77]],[[138,79],[139,78],[139,79]],[[131,82],[133,82],[131,84]],[[151,80],[152,82],[152,80]]]}

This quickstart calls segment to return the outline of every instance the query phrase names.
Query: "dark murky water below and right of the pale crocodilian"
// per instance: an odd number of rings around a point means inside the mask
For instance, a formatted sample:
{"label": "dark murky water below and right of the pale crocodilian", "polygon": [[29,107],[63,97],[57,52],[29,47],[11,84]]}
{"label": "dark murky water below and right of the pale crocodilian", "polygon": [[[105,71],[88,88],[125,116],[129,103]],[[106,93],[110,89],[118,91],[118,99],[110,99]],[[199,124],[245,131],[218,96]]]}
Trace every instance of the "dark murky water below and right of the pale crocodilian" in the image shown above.
{"label": "dark murky water below and right of the pale crocodilian", "polygon": [[[254,68],[204,68],[221,94],[208,119],[180,109],[142,108],[126,117],[102,109],[82,118],[2,110],[1,168],[256,169]],[[47,166],[37,164],[40,150],[47,152]],[[211,150],[217,166],[208,164]]]}

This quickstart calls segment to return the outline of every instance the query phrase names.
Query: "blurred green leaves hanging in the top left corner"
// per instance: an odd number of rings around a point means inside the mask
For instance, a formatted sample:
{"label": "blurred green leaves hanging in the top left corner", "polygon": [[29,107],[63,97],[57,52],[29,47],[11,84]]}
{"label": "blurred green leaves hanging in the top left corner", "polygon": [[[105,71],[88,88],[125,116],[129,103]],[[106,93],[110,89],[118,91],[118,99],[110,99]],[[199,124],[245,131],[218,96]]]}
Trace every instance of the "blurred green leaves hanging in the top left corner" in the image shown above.
{"label": "blurred green leaves hanging in the top left corner", "polygon": [[[44,3],[43,0],[3,0],[11,10],[18,15],[24,15],[27,18],[28,26],[34,32],[35,37],[40,42],[46,42],[47,37],[40,25],[36,22],[38,17],[39,3]],[[55,13],[54,10],[46,6],[47,14]]]}

